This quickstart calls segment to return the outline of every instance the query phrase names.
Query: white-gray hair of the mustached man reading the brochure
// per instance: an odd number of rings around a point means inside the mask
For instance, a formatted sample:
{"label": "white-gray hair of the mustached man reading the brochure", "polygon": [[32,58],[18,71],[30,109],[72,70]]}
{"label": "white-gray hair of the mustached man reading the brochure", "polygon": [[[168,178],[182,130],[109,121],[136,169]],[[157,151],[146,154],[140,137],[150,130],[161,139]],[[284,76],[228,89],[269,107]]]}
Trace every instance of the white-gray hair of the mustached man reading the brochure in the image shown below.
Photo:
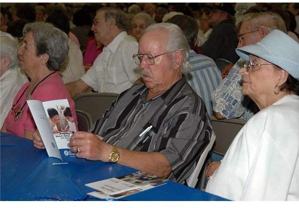
{"label": "white-gray hair of the mustached man reading the brochure", "polygon": [[[192,69],[189,62],[189,44],[182,30],[175,24],[157,23],[150,25],[146,30],[147,33],[153,29],[161,29],[167,31],[166,43],[164,44],[165,52],[180,50],[183,53],[182,72]],[[144,33],[144,34],[145,34]]]}

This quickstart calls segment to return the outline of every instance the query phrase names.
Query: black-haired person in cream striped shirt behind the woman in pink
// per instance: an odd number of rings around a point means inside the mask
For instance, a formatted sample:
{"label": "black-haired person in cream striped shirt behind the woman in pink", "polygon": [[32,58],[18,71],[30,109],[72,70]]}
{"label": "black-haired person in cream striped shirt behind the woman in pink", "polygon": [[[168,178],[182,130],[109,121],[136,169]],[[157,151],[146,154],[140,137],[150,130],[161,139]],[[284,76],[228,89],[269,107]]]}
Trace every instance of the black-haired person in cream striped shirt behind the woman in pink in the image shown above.
{"label": "black-haired person in cream striped shirt behind the woman in pink", "polygon": [[[53,24],[66,34],[70,32],[69,20],[63,10],[56,9],[52,11],[46,22]],[[68,39],[68,45],[67,57],[58,72],[64,84],[77,81],[85,74],[83,55],[80,48],[70,38]]]}

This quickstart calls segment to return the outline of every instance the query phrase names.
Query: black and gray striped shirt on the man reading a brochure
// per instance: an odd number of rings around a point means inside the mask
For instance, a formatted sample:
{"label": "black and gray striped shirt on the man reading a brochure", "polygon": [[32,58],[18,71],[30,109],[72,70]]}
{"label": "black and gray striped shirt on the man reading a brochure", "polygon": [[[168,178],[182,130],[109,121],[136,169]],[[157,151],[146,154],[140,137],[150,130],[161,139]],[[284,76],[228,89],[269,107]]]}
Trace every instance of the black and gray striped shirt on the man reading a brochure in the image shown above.
{"label": "black and gray striped shirt on the man reading a brochure", "polygon": [[[91,132],[129,150],[162,153],[172,167],[168,179],[183,184],[210,142],[209,115],[184,77],[147,102],[148,91],[138,84],[121,93]],[[140,136],[150,125],[148,133]]]}

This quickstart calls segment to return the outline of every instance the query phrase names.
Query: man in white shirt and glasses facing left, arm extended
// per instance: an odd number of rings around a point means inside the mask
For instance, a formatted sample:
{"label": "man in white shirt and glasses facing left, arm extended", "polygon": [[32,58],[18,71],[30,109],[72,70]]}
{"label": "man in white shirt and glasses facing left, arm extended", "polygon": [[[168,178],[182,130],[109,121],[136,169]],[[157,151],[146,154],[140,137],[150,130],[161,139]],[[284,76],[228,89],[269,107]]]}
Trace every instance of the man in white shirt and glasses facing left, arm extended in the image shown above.
{"label": "man in white shirt and glasses facing left, arm extended", "polygon": [[117,8],[100,8],[93,20],[92,31],[103,52],[81,79],[66,85],[71,97],[92,89],[99,93],[121,93],[140,78],[132,54],[138,42],[127,34],[125,13]]}

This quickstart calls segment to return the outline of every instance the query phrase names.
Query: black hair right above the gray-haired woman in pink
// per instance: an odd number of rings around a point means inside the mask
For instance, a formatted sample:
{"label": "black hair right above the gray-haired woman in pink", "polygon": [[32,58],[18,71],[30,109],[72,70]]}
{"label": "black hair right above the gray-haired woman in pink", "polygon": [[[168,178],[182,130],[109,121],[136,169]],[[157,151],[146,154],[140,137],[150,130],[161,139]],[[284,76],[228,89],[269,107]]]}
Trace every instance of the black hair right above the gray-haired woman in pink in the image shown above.
{"label": "black hair right above the gray-haired woman in pink", "polygon": [[70,22],[65,11],[61,9],[54,9],[47,17],[46,22],[53,24],[55,27],[61,29],[68,34],[70,29]]}

